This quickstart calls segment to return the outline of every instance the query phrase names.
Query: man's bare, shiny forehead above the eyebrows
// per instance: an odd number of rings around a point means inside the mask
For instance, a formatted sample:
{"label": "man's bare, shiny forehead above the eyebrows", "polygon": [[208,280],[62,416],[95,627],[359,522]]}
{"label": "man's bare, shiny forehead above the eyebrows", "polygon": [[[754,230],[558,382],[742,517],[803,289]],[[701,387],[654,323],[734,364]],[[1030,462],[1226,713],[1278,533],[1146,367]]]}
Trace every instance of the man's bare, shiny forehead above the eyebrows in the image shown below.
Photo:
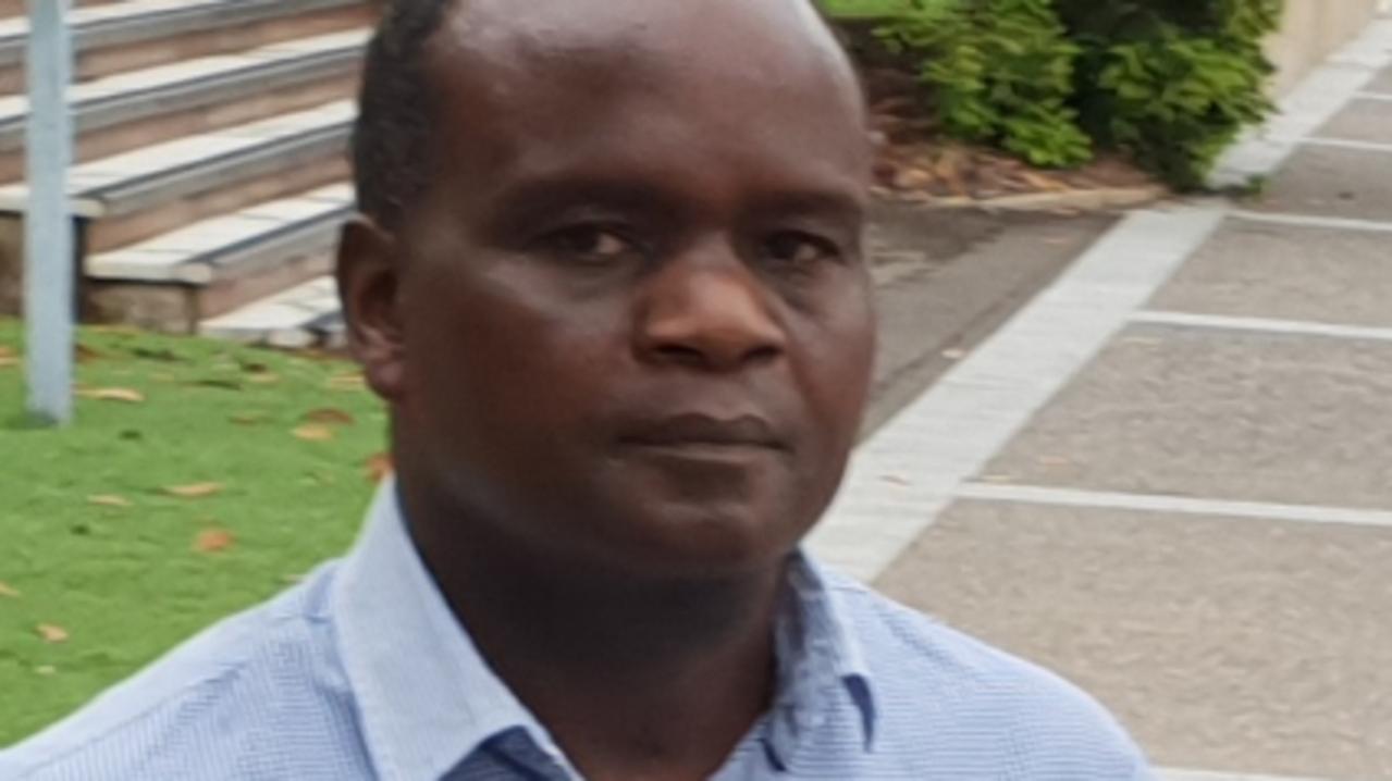
{"label": "man's bare, shiny forehead above the eyebrows", "polygon": [[437,177],[480,196],[578,167],[796,189],[859,187],[867,166],[855,77],[803,0],[473,0],[432,40],[429,74]]}

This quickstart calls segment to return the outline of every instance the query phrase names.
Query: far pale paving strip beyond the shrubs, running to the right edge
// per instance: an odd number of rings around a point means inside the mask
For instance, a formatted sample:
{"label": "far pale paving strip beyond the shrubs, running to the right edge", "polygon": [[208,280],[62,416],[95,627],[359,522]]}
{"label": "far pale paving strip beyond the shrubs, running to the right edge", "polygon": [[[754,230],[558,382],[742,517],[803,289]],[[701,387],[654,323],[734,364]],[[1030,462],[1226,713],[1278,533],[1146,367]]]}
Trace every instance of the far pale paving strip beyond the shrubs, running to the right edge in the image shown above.
{"label": "far pale paving strip beyond the shrubs, running to the right edge", "polygon": [[1324,127],[1388,65],[1392,65],[1392,19],[1378,19],[1286,95],[1275,117],[1229,149],[1211,177],[1212,184],[1242,187],[1279,168],[1300,139]]}

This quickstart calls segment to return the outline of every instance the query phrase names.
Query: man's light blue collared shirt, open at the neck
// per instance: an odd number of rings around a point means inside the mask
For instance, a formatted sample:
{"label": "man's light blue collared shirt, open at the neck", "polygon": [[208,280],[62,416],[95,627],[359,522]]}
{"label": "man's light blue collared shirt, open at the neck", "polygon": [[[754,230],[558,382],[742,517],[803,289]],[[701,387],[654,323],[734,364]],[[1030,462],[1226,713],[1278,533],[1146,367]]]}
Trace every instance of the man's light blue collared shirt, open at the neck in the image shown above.
{"label": "man's light blue collared shirt, open at the neck", "polygon": [[[718,780],[1153,778],[1054,675],[806,557],[789,581],[773,707]],[[579,777],[455,621],[390,484],[345,560],[0,753],[0,781]]]}

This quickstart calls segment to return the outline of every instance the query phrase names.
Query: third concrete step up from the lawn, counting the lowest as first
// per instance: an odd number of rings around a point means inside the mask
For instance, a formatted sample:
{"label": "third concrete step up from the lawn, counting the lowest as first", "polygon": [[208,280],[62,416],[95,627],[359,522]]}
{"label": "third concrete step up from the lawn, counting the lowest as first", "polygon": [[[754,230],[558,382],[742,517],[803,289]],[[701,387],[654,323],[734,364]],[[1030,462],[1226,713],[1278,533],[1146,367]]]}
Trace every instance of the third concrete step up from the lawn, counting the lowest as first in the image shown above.
{"label": "third concrete step up from the lawn, counting the lowest as first", "polygon": [[[142,148],[72,168],[84,246],[106,252],[188,223],[344,181],[355,107],[308,111]],[[0,188],[0,213],[22,214],[28,188]]]}

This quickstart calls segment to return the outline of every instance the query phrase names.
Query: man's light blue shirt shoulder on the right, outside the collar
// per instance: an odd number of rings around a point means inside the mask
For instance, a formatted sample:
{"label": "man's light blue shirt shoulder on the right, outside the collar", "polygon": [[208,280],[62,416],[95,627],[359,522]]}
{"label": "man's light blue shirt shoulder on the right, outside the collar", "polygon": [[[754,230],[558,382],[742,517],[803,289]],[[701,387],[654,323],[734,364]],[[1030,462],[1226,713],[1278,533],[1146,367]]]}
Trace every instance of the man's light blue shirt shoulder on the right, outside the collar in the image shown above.
{"label": "man's light blue shirt shoulder on the right, outside the collar", "polygon": [[863,646],[887,742],[931,741],[933,762],[963,773],[990,762],[1030,780],[1151,778],[1116,720],[1077,686],[866,586],[839,576],[828,586]]}

